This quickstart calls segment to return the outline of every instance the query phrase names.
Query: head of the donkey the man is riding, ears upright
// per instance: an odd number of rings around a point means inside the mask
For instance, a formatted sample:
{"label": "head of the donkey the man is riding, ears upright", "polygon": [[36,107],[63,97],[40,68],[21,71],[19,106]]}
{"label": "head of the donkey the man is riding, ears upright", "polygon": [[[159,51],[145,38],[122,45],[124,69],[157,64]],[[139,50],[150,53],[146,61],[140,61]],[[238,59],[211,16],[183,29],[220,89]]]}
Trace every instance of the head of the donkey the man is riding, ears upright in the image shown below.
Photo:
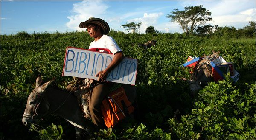
{"label": "head of the donkey the man is riding, ears upright", "polygon": [[55,84],[55,78],[52,81],[44,83],[41,75],[39,74],[36,79],[35,89],[30,93],[26,109],[23,114],[22,122],[24,125],[29,126],[31,123],[37,123],[38,119],[43,117],[49,110],[49,103],[44,101],[44,95],[47,88]]}

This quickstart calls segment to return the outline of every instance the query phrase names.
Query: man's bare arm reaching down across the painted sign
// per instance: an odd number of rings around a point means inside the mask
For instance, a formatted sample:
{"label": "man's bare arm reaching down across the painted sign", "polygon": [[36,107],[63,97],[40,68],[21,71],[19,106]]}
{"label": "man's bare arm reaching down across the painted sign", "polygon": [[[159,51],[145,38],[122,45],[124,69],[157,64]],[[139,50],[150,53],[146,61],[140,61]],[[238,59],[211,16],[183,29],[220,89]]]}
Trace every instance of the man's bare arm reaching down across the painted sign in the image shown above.
{"label": "man's bare arm reaching down across the painted sign", "polygon": [[108,73],[113,70],[120,62],[122,62],[122,59],[125,57],[122,51],[116,52],[114,54],[114,58],[111,61],[111,63],[108,65],[108,67],[105,70],[100,71],[95,76],[98,77],[99,82],[104,82],[108,76]]}

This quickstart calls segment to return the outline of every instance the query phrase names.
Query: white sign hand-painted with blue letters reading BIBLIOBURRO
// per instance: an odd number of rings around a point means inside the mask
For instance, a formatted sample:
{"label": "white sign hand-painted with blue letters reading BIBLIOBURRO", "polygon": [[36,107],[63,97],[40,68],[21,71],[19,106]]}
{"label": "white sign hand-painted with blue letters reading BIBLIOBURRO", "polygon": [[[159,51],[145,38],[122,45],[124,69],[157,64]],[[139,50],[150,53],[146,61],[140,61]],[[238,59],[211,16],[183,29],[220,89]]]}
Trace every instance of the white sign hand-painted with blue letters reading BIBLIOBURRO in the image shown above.
{"label": "white sign hand-painted with blue letters reading BIBLIOBURRO", "polygon": [[[111,63],[114,55],[67,47],[62,76],[98,80],[95,75]],[[135,84],[138,60],[125,57],[110,73],[106,81]]]}

